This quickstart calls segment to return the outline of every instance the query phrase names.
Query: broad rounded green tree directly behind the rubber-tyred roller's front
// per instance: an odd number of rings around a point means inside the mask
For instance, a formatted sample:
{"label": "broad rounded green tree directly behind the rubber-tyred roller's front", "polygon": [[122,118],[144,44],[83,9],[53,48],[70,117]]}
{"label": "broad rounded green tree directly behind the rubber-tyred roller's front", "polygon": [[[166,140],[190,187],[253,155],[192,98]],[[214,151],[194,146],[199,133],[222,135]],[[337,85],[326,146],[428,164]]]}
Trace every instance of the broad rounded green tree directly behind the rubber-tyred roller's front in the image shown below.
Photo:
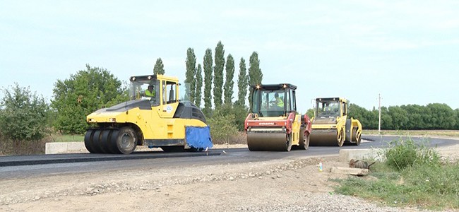
{"label": "broad rounded green tree directly behind the rubber-tyred roller's front", "polygon": [[83,134],[86,116],[101,107],[128,100],[127,89],[107,69],[86,65],[85,70],[54,83],[52,108],[57,111],[54,126],[68,134]]}

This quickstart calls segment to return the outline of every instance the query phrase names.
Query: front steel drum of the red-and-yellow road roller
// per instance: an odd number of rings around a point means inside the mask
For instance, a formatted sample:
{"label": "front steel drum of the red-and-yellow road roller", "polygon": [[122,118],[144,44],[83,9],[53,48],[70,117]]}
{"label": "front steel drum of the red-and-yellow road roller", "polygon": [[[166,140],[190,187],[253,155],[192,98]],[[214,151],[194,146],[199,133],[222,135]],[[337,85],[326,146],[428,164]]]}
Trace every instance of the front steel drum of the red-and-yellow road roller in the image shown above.
{"label": "front steel drum of the red-and-yellow road roller", "polygon": [[247,146],[250,151],[289,151],[285,131],[247,131]]}

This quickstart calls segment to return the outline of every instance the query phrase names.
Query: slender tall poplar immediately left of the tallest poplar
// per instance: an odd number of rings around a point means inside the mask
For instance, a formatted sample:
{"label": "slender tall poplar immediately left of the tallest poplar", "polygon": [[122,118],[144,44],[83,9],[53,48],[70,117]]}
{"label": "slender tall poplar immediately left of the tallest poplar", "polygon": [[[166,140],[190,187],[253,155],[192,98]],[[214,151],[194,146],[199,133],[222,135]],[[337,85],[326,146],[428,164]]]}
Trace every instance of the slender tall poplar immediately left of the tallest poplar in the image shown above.
{"label": "slender tall poplar immediately left of the tallest poplar", "polygon": [[212,112],[212,96],[210,91],[212,90],[212,73],[213,73],[213,61],[212,61],[212,49],[205,49],[203,69],[204,69],[204,114],[206,117],[210,117]]}

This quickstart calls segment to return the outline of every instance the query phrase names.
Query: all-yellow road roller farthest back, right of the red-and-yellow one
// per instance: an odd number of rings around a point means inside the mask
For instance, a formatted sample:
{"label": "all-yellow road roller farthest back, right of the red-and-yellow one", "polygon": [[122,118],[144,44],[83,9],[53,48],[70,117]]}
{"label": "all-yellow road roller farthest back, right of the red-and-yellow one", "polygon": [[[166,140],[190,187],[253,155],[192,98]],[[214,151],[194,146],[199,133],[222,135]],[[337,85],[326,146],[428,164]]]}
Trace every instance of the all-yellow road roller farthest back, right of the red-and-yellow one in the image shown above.
{"label": "all-yellow road roller farthest back, right of the red-and-yellow one", "polygon": [[345,98],[316,98],[312,118],[311,146],[358,146],[362,124],[357,119],[347,119]]}

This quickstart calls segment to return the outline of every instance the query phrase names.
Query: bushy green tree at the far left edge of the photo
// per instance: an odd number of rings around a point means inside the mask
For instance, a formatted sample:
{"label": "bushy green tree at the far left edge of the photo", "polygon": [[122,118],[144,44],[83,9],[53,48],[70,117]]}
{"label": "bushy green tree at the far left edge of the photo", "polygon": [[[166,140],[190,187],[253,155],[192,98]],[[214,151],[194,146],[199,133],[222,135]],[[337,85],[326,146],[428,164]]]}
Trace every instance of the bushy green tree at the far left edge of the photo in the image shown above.
{"label": "bushy green tree at the far left edge of the photo", "polygon": [[[4,88],[0,102],[0,131],[15,146],[43,139],[47,132],[49,105],[42,96],[15,83]],[[2,141],[4,142],[4,141]]]}

